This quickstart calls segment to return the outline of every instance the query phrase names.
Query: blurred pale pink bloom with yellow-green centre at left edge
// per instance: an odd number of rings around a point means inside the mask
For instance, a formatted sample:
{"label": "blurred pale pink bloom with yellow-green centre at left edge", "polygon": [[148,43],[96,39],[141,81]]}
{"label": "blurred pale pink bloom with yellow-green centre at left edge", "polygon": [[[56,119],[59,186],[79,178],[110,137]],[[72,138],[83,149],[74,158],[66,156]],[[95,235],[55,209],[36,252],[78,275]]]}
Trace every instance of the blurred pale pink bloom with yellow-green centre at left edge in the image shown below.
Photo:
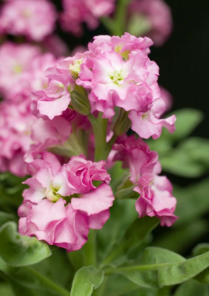
{"label": "blurred pale pink bloom with yellow-green centre at left edge", "polygon": [[6,42],[0,47],[0,92],[6,99],[28,98],[33,81],[31,62],[39,55],[39,47],[29,44]]}

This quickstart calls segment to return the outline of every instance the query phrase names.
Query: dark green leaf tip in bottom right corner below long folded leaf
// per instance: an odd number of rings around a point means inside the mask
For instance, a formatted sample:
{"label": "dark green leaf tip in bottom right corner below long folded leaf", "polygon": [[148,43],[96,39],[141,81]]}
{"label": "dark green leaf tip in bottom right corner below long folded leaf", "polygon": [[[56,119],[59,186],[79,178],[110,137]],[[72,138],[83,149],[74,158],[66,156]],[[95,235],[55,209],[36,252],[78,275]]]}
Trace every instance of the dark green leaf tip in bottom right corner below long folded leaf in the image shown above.
{"label": "dark green leaf tip in bottom right corner below long folded leaf", "polygon": [[189,280],[181,284],[174,296],[208,296],[208,287],[194,280]]}

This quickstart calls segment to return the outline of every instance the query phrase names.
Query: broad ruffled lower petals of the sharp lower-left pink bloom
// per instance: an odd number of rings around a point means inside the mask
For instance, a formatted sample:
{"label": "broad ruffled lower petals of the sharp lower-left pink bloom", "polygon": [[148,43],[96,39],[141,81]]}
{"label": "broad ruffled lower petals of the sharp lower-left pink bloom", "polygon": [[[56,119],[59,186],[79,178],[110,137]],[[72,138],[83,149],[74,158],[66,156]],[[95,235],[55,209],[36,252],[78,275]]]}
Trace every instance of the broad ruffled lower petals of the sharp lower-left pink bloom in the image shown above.
{"label": "broad ruffled lower petals of the sharp lower-left pink bloom", "polygon": [[27,203],[29,212],[19,220],[22,235],[36,236],[49,245],[57,245],[68,252],[79,250],[88,237],[88,223],[84,214],[72,209],[71,204],[60,198],[52,203],[43,199],[39,204]]}

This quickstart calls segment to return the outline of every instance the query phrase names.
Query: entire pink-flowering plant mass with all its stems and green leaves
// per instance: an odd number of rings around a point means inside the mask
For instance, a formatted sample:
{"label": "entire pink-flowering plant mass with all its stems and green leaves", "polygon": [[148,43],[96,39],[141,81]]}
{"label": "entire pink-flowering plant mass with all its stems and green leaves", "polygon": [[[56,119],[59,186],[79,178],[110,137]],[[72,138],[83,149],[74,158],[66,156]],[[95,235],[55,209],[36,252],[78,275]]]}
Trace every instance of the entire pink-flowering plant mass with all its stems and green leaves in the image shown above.
{"label": "entire pink-flowering plant mass with all its stems and green leaves", "polygon": [[[178,296],[189,285],[204,295],[209,246],[185,258],[182,241],[195,227],[205,233],[190,212],[205,214],[197,193],[208,183],[173,190],[165,172],[206,172],[209,142],[178,143],[202,115],[165,116],[172,97],[149,56],[170,34],[170,9],[162,0],[62,5],[59,16],[48,0],[8,0],[0,11],[2,35],[24,36],[0,46],[0,292]],[[51,35],[57,19],[79,37],[82,23],[111,35],[66,56]]]}

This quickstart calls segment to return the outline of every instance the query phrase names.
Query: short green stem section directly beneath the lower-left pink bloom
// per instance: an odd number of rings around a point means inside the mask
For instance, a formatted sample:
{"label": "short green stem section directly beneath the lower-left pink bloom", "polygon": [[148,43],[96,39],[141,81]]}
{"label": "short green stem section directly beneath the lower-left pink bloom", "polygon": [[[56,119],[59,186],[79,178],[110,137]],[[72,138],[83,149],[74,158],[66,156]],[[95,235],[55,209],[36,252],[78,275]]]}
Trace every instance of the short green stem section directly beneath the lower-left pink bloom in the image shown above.
{"label": "short green stem section directly beneath the lower-left pink bloom", "polygon": [[90,229],[88,241],[83,246],[84,266],[96,266],[96,235],[96,230]]}

